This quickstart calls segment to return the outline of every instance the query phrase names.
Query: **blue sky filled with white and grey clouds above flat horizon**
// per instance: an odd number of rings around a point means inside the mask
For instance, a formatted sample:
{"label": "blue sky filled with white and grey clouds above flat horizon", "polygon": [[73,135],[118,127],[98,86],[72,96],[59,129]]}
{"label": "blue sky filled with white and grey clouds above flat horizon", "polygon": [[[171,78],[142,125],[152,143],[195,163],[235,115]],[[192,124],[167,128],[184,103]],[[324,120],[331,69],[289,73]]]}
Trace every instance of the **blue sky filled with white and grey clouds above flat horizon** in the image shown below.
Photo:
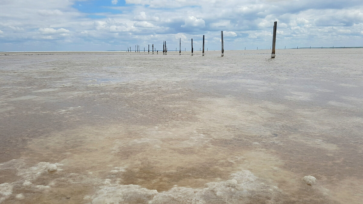
{"label": "blue sky filled with white and grey clouds above flat horizon", "polygon": [[362,0],[0,0],[0,51],[363,46]]}

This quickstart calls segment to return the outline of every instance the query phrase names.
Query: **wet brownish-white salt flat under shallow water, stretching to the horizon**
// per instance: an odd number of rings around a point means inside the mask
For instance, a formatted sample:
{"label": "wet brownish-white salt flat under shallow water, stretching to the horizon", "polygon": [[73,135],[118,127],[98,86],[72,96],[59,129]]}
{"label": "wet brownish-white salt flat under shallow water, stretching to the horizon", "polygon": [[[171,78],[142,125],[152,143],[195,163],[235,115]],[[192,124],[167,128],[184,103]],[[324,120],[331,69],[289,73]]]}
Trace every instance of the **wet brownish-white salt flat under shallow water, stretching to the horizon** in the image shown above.
{"label": "wet brownish-white salt flat under shallow water, stretching to the horizon", "polygon": [[269,51],[0,56],[0,203],[360,203],[363,50]]}

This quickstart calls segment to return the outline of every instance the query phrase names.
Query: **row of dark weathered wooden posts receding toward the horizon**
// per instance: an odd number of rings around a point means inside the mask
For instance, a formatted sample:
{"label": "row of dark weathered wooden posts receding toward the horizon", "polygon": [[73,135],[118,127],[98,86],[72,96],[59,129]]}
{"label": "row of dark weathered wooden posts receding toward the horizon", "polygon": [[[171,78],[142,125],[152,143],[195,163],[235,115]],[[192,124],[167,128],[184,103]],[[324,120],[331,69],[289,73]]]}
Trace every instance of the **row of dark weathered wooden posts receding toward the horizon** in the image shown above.
{"label": "row of dark weathered wooden posts receding toward the horizon", "polygon": [[[277,29],[277,21],[274,22],[273,25],[273,37],[272,37],[272,53],[271,58],[275,58],[275,47],[276,47],[276,29]],[[221,31],[221,42],[222,42],[222,48],[221,48],[221,56],[224,56],[224,48],[223,48],[223,30]],[[285,47],[286,48],[286,47]],[[246,48],[245,48],[246,49]],[[257,47],[258,49],[258,47]],[[156,53],[159,52],[159,50],[156,50]],[[175,49],[176,51],[176,49]],[[129,47],[127,47],[127,52],[131,52],[131,47],[129,50]],[[135,45],[135,52],[140,53],[140,45]],[[144,48],[145,52],[145,48]],[[150,44],[148,45],[148,51],[147,53],[150,53]],[[154,44],[152,44],[152,54],[154,54]],[[163,54],[167,54],[167,47],[166,47],[166,41],[163,41]],[[181,55],[181,38],[179,38],[179,55]],[[192,38],[192,55],[193,55],[193,38]],[[203,49],[202,49],[202,56],[204,56],[204,35],[203,35]]]}

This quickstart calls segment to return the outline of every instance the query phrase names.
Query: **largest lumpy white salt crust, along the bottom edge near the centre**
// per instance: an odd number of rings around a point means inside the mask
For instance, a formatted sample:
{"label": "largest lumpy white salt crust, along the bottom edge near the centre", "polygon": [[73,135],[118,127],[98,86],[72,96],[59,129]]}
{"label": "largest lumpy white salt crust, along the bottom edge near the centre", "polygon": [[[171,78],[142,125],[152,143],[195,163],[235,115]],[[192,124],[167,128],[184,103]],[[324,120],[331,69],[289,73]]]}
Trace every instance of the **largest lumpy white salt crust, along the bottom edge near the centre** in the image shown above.
{"label": "largest lumpy white salt crust, along the bottom edge near the centre", "polygon": [[245,203],[254,197],[278,197],[277,187],[270,187],[258,181],[250,171],[231,174],[230,179],[206,184],[206,188],[195,189],[174,187],[169,191],[158,192],[142,188],[139,185],[112,184],[106,179],[104,185],[95,195],[86,196],[89,204],[104,203]]}

